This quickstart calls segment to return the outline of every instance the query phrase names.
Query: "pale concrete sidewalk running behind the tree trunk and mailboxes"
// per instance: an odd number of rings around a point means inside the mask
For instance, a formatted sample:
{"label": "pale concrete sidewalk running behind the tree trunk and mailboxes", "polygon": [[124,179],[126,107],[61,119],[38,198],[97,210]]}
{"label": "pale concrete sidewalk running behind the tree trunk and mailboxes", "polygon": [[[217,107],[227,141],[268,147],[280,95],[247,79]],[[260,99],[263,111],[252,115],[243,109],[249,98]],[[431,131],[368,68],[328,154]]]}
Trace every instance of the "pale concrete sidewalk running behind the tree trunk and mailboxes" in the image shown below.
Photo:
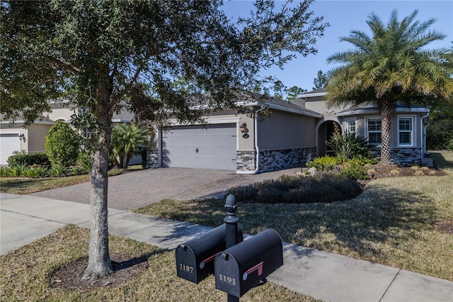
{"label": "pale concrete sidewalk running behind the tree trunk and mailboxes", "polygon": [[[0,194],[1,255],[72,223],[89,227],[90,206]],[[174,249],[211,228],[109,208],[112,234]],[[323,301],[453,301],[453,282],[284,244],[284,265],[268,280]]]}

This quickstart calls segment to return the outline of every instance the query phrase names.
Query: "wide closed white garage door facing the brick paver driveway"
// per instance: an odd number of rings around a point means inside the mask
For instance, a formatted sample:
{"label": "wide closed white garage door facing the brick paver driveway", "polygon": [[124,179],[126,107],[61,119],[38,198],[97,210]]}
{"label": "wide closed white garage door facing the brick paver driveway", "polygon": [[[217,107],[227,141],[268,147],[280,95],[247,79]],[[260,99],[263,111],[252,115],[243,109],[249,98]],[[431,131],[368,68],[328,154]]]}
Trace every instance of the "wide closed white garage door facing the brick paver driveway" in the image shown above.
{"label": "wide closed white garage door facing the brick paver driveway", "polygon": [[177,126],[164,131],[162,165],[236,170],[236,124]]}

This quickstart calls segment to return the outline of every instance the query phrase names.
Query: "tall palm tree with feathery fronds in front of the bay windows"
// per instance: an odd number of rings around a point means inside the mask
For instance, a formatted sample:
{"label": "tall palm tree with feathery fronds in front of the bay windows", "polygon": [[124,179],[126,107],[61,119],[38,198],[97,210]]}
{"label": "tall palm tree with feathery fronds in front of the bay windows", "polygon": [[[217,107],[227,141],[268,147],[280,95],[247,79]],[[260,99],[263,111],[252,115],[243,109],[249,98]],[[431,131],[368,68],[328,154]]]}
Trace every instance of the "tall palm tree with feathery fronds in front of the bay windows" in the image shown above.
{"label": "tall palm tree with feathery fronds in front of the bay windows", "polygon": [[381,162],[390,164],[390,118],[396,102],[428,105],[433,99],[452,100],[451,69],[442,60],[447,49],[427,50],[425,46],[442,40],[437,30],[428,30],[435,19],[415,21],[418,11],[400,22],[396,11],[384,24],[372,13],[367,24],[372,37],[352,30],[341,41],[352,43],[352,50],[328,57],[328,63],[340,63],[329,72],[327,103],[331,106],[372,102],[382,117]]}

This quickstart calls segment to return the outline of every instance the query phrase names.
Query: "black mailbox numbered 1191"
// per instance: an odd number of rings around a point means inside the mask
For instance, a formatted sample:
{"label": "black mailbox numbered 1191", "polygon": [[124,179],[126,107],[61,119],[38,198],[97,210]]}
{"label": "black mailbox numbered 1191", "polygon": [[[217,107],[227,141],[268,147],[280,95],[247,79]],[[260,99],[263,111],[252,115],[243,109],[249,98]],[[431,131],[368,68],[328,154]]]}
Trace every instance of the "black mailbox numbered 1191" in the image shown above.
{"label": "black mailbox numbered 1191", "polygon": [[215,288],[240,298],[282,265],[282,238],[264,230],[215,258]]}

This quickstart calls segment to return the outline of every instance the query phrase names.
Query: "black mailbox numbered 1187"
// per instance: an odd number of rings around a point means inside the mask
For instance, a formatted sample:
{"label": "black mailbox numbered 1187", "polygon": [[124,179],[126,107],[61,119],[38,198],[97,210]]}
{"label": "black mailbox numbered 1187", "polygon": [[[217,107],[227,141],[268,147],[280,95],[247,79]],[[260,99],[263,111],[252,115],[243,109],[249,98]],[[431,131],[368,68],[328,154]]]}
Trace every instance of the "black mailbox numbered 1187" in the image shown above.
{"label": "black mailbox numbered 1187", "polygon": [[[243,240],[238,228],[238,242]],[[198,284],[214,274],[214,259],[226,249],[226,225],[220,225],[176,247],[176,274]]]}

